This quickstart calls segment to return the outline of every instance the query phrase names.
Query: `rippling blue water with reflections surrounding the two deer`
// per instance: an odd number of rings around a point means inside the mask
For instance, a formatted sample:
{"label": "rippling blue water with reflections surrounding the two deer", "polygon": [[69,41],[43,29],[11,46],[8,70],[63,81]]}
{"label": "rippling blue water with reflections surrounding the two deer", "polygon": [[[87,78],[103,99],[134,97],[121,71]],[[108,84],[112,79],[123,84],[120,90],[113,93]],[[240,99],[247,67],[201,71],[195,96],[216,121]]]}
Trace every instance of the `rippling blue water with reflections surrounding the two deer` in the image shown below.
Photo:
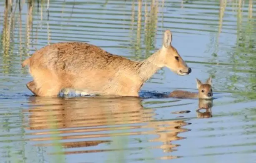
{"label": "rippling blue water with reflections surrounding the two deer", "polygon": [[[47,1],[33,6],[19,15],[13,2],[11,16],[0,0],[1,162],[255,161],[255,1],[55,0],[49,13]],[[83,41],[141,60],[161,47],[166,29],[192,73],[163,68],[141,98],[39,98],[25,86],[32,78],[21,61],[48,43]],[[209,76],[213,101],[158,95],[196,91],[196,78]]]}

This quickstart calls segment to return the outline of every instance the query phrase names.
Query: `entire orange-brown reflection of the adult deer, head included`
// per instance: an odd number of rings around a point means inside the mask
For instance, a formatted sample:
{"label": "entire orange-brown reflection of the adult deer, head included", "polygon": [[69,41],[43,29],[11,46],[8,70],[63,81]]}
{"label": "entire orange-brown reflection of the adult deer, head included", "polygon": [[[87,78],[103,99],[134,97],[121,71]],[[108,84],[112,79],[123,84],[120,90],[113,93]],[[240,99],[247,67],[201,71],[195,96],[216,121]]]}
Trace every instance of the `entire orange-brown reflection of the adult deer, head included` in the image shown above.
{"label": "entire orange-brown reflection of the adult deer, head included", "polygon": [[[110,137],[114,136],[152,134],[158,135],[159,138],[151,141],[163,142],[163,145],[156,148],[162,148],[164,152],[171,152],[172,148],[178,145],[171,145],[168,142],[182,139],[177,134],[187,131],[181,128],[181,126],[187,125],[183,120],[156,120],[153,118],[154,110],[143,109],[142,99],[136,97],[30,97],[29,103],[31,106],[27,110],[29,112],[27,129],[34,130],[30,140],[38,141],[40,144],[37,146],[54,145],[46,142],[54,139],[52,134],[58,134],[57,137],[63,148],[112,143]],[[55,130],[50,130],[54,128]],[[114,130],[115,132],[113,132]],[[125,132],[121,130],[125,130]],[[93,138],[95,140],[91,140]],[[115,149],[78,150],[64,153],[102,152]],[[171,158],[173,157],[168,156],[166,159]]]}

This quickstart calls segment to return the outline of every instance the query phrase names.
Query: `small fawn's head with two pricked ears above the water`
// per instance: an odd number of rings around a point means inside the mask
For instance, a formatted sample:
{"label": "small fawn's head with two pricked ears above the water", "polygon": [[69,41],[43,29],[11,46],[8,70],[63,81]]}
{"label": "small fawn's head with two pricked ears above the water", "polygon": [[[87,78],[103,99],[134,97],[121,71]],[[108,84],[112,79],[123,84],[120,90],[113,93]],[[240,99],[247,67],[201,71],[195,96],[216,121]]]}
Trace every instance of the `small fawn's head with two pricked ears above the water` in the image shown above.
{"label": "small fawn's head with two pricked ears above the water", "polygon": [[206,83],[202,83],[199,79],[196,78],[196,86],[198,89],[198,97],[200,99],[212,99],[213,91],[211,89],[211,77],[206,80]]}

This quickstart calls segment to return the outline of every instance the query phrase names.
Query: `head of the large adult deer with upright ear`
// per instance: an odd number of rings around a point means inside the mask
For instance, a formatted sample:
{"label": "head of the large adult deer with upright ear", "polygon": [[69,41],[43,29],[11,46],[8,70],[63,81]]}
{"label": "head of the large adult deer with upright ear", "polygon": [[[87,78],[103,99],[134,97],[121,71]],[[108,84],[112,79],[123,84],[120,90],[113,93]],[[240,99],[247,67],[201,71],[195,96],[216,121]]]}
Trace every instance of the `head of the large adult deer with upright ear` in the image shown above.
{"label": "head of the large adult deer with upright ear", "polygon": [[178,51],[171,45],[172,34],[170,30],[166,30],[163,36],[163,47],[161,53],[166,67],[178,75],[188,75],[191,73],[191,68],[181,58]]}

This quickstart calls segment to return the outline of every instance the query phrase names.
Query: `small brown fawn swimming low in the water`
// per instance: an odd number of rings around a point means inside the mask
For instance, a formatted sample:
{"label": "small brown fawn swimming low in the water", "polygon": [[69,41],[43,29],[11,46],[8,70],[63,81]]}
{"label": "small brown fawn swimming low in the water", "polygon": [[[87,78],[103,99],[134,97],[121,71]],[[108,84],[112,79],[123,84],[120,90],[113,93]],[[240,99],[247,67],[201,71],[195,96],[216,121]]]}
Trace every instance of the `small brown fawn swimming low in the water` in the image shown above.
{"label": "small brown fawn swimming low in the water", "polygon": [[[199,98],[199,99],[211,99],[213,98],[212,93],[212,83],[211,83],[211,77],[208,78],[205,84],[203,84],[200,80],[196,79],[198,93],[193,93],[189,91],[184,90],[174,90],[171,92],[168,97],[173,98]],[[202,92],[203,91],[203,92]],[[208,93],[211,94],[211,96],[208,96]]]}

